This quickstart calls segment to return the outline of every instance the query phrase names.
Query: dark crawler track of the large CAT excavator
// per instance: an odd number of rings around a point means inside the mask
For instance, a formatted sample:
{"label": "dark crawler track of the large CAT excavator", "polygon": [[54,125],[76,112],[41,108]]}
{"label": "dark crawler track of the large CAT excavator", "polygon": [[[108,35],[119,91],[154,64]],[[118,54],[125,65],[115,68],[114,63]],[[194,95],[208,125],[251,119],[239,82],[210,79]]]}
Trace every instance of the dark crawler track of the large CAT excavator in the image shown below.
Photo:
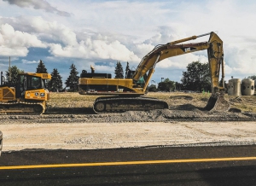
{"label": "dark crawler track of the large CAT excavator", "polygon": [[146,111],[168,108],[164,101],[153,97],[106,96],[96,99],[93,110],[96,113],[123,113],[125,111]]}

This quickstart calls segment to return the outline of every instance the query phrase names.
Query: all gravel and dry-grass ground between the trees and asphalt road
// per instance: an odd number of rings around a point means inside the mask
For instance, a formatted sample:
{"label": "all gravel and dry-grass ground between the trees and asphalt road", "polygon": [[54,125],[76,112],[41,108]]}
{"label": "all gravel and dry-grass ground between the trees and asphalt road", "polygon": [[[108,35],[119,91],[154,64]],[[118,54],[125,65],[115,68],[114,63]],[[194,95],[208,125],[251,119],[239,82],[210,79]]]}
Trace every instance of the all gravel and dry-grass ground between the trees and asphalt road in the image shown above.
{"label": "all gravel and dry-grass ground between the trees and asphalt road", "polygon": [[254,96],[232,98],[247,111],[224,113],[204,110],[198,94],[160,96],[169,109],[95,114],[90,96],[52,94],[43,115],[0,115],[3,151],[255,144]]}

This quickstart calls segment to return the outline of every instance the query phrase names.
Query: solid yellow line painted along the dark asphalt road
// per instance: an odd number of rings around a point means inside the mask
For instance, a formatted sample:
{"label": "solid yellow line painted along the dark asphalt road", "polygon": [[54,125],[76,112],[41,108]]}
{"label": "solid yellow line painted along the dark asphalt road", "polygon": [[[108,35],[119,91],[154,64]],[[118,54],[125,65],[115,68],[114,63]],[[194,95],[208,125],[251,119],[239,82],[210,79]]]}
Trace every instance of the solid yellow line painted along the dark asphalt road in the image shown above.
{"label": "solid yellow line painted along the dark asphalt road", "polygon": [[80,164],[34,165],[34,166],[0,166],[0,170],[59,168],[59,167],[77,167],[77,166],[126,166],[126,165],[143,165],[143,164],[196,163],[196,162],[211,162],[211,161],[232,161],[232,160],[234,161],[256,160],[256,157],[188,159],[188,160],[144,160],[144,161],[121,161],[121,162],[100,162],[100,163],[80,163]]}

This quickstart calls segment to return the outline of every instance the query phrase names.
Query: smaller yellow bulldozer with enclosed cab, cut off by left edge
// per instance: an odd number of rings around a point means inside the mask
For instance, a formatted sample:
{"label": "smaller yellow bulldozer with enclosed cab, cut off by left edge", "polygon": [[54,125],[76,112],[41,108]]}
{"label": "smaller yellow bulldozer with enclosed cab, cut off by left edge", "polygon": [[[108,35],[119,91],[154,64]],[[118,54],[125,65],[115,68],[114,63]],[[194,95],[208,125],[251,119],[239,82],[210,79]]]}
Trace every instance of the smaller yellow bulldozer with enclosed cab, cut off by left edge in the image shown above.
{"label": "smaller yellow bulldozer with enclosed cab, cut off by left edge", "polygon": [[46,111],[49,73],[19,73],[16,84],[10,84],[1,72],[0,114],[42,114]]}

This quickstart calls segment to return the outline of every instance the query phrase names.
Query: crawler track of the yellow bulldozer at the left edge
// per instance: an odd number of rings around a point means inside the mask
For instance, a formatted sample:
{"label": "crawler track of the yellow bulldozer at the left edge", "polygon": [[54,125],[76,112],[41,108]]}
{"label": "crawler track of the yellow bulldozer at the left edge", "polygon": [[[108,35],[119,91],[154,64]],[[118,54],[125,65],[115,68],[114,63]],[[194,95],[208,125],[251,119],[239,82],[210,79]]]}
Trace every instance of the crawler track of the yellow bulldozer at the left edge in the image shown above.
{"label": "crawler track of the yellow bulldozer at the left edge", "polygon": [[7,115],[41,115],[45,112],[45,107],[39,102],[1,102],[0,114]]}

